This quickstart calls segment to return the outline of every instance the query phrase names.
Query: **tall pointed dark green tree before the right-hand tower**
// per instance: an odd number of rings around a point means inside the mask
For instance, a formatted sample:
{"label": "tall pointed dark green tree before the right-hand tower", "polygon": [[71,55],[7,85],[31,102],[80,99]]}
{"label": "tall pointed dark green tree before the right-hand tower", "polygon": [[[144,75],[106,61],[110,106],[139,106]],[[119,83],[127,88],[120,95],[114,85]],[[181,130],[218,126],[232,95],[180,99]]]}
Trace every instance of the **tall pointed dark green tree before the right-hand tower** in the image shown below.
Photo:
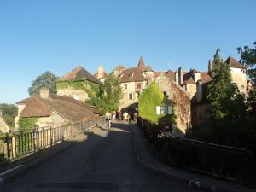
{"label": "tall pointed dark green tree before the right-hand tower", "polygon": [[245,96],[241,95],[236,84],[231,82],[230,67],[220,60],[219,51],[217,49],[214,55],[213,81],[208,85],[208,116],[213,120],[244,117],[247,109]]}

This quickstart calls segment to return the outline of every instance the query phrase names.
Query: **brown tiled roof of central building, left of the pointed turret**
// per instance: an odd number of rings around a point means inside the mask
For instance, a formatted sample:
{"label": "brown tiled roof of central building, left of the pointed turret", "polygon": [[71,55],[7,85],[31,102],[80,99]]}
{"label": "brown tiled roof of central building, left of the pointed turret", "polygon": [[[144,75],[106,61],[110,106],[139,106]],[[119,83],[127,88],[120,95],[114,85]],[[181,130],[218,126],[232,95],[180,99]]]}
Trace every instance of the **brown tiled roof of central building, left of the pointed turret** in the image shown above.
{"label": "brown tiled roof of central building, left of the pointed turret", "polygon": [[125,82],[137,82],[137,81],[144,81],[146,80],[143,71],[140,70],[138,67],[134,68],[127,68],[123,73],[121,73],[119,77],[119,82],[120,83],[125,83]]}

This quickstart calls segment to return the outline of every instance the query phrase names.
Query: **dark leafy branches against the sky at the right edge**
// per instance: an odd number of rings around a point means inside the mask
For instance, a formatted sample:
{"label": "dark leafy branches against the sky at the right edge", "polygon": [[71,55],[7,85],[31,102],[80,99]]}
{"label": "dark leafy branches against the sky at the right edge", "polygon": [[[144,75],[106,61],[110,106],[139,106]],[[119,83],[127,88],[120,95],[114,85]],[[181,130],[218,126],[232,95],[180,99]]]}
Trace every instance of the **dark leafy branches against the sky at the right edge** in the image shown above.
{"label": "dark leafy branches against the sky at the right edge", "polygon": [[256,83],[256,41],[254,42],[255,48],[251,49],[248,46],[237,48],[238,53],[241,55],[240,62],[249,67],[247,69],[247,75],[250,79]]}

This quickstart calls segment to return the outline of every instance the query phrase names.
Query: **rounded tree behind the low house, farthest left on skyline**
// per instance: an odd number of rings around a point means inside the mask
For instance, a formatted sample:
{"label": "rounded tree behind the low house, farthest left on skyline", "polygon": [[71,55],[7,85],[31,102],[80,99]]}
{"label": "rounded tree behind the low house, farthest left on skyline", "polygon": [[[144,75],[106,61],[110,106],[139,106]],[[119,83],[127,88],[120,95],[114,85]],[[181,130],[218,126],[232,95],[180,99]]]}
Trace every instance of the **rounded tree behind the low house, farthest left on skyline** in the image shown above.
{"label": "rounded tree behind the low house, farthest left on skyline", "polygon": [[56,80],[57,77],[54,73],[46,71],[45,73],[39,75],[37,79],[32,82],[30,88],[28,88],[28,93],[30,96],[38,95],[42,87],[46,87],[49,89],[51,93],[57,93],[56,90]]}

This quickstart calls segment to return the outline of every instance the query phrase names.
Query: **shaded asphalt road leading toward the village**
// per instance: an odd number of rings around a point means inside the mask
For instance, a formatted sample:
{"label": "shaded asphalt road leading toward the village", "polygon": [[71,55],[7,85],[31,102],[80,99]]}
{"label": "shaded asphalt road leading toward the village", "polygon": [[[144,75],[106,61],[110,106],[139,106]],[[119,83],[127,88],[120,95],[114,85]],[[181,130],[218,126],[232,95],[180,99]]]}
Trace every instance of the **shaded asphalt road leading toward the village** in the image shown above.
{"label": "shaded asphalt road leading toward the village", "polygon": [[56,155],[1,191],[81,192],[194,191],[137,165],[130,125],[116,122],[111,131],[96,128],[86,141]]}

